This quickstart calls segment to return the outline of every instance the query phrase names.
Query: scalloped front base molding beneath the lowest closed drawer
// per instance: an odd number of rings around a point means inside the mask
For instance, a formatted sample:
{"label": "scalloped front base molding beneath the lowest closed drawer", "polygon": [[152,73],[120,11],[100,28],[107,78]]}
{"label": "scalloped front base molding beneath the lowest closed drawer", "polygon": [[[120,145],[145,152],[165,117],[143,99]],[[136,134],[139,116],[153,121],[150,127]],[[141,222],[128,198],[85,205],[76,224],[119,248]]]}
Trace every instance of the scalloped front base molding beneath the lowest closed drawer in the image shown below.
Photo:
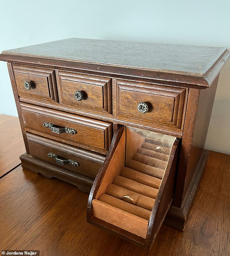
{"label": "scalloped front base molding beneath the lowest closed drawer", "polygon": [[78,173],[69,172],[64,168],[41,161],[40,159],[26,153],[20,156],[20,160],[22,168],[36,174],[40,173],[46,178],[55,177],[69,182],[77,186],[83,192],[89,193],[94,182],[94,179]]}

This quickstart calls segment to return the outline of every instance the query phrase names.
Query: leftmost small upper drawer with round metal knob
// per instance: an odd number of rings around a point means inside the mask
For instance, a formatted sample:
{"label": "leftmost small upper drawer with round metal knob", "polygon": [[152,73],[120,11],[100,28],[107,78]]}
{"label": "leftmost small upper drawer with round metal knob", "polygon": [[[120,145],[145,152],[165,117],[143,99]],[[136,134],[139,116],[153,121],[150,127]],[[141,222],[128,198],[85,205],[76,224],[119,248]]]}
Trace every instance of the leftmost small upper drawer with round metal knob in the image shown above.
{"label": "leftmost small upper drawer with round metal knob", "polygon": [[13,64],[20,101],[58,102],[55,71]]}

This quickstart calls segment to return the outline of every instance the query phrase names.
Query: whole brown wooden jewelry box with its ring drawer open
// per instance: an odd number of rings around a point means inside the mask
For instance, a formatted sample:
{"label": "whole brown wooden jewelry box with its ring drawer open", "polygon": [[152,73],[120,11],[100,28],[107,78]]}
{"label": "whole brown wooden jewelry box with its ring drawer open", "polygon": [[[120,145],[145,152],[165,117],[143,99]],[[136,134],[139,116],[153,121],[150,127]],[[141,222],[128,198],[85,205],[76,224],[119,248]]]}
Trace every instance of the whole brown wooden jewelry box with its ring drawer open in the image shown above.
{"label": "whole brown wooden jewelry box with its ring drawer open", "polygon": [[22,167],[90,192],[87,221],[149,249],[183,230],[226,48],[67,39],[3,51]]}

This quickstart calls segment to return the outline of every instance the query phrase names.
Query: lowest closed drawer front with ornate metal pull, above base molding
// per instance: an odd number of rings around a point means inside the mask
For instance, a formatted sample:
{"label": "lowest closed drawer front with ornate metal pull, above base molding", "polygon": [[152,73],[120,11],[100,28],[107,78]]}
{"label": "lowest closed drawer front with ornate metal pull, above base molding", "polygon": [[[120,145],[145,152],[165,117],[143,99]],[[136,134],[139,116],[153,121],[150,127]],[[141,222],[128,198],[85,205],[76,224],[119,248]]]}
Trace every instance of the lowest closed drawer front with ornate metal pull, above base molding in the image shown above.
{"label": "lowest closed drawer front with ornate metal pull, above base molding", "polygon": [[71,172],[95,178],[104,157],[70,145],[26,133],[30,155]]}

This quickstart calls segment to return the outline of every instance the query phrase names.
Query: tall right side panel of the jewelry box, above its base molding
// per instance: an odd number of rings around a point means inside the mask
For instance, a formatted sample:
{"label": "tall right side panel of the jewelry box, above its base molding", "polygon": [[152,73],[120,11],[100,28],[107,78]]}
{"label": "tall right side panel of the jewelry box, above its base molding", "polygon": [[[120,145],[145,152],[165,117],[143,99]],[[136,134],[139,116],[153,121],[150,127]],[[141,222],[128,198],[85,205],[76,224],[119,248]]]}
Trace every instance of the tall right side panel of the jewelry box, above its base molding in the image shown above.
{"label": "tall right side panel of the jewelry box, above its base molding", "polygon": [[[218,77],[206,90],[190,89],[173,205],[181,207],[204,150]],[[186,172],[185,172],[186,170]]]}

